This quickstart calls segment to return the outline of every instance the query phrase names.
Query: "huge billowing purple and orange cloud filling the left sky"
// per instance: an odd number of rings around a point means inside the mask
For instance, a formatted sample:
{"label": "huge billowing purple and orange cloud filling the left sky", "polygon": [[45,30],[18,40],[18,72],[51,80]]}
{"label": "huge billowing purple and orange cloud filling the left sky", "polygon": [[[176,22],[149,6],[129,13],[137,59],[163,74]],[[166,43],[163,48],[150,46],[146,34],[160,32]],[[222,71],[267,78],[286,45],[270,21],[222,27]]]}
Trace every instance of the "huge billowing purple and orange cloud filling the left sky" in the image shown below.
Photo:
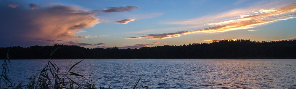
{"label": "huge billowing purple and orange cloud filling the left sky", "polygon": [[[16,40],[20,42],[19,46],[49,45],[52,44],[49,40],[83,38],[73,34],[99,23],[99,19],[95,17],[96,13],[74,6],[52,4],[35,9],[37,5],[30,4],[34,10],[26,7],[16,8],[17,6],[12,4],[9,6],[0,8],[0,12],[5,12],[0,15],[3,17],[0,20],[0,41]],[[12,6],[16,9],[11,9]],[[38,40],[40,44],[30,43],[29,40]]]}

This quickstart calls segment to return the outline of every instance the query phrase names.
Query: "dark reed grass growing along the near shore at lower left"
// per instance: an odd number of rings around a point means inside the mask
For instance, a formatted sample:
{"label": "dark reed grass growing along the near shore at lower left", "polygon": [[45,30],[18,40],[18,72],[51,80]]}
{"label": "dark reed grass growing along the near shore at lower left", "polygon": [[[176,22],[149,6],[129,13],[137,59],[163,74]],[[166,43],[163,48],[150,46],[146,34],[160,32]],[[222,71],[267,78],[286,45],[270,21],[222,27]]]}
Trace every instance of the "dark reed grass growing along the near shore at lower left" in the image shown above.
{"label": "dark reed grass growing along the near shore at lower left", "polygon": [[[9,60],[9,54],[8,54],[9,50],[8,50],[6,59],[4,59],[4,63],[2,64],[3,69],[0,77],[0,88],[1,89],[112,89],[111,85],[109,85],[108,88],[102,87],[102,84],[100,86],[96,86],[96,82],[94,82],[93,80],[90,80],[90,76],[86,78],[81,74],[71,71],[76,65],[78,65],[83,60],[75,63],[70,67],[72,63],[71,61],[69,66],[67,67],[67,70],[64,73],[60,73],[59,67],[50,58],[55,53],[55,51],[57,51],[58,48],[59,47],[55,48],[54,51],[50,53],[47,65],[45,65],[39,73],[36,73],[36,74],[34,73],[35,75],[30,77],[30,81],[26,85],[23,85],[23,82],[20,82],[18,84],[12,83],[7,77],[7,73],[9,73],[9,69],[7,65],[8,63],[10,64],[11,62]],[[83,80],[85,80],[86,82],[85,81],[75,82],[76,81],[75,78],[72,78],[72,77],[83,78]],[[141,77],[138,78],[137,82],[134,84],[132,89],[143,89],[143,88],[148,89],[149,85],[144,86],[144,82],[146,78],[144,79],[143,82],[140,82]],[[127,89],[129,83],[126,86],[123,84],[121,89]],[[142,85],[140,85],[140,83],[142,83]]]}

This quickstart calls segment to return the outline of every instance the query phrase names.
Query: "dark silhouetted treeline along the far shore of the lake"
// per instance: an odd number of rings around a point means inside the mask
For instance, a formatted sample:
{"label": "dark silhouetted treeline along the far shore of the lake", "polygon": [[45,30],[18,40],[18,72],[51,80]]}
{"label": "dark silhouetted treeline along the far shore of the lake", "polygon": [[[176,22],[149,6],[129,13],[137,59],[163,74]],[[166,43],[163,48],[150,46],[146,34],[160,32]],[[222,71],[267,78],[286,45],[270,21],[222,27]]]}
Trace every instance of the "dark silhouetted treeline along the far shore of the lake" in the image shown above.
{"label": "dark silhouetted treeline along the far shore of the lake", "polygon": [[[164,45],[139,49],[84,48],[75,45],[11,47],[10,59],[49,59],[50,52],[60,47],[52,59],[269,59],[296,58],[296,40],[256,42],[222,40],[212,43],[189,45]],[[1,59],[5,59],[9,47],[1,47]]]}

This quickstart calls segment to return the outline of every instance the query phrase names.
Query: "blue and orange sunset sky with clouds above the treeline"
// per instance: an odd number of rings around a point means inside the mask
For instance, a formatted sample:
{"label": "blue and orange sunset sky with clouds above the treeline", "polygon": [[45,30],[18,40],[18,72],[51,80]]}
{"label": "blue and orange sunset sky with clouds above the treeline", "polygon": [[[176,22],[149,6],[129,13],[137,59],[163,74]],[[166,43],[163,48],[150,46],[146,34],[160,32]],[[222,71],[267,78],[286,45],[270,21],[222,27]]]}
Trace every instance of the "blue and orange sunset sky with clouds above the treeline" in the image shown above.
{"label": "blue and orange sunset sky with clouds above the treeline", "polygon": [[1,0],[0,47],[296,39],[296,0]]}

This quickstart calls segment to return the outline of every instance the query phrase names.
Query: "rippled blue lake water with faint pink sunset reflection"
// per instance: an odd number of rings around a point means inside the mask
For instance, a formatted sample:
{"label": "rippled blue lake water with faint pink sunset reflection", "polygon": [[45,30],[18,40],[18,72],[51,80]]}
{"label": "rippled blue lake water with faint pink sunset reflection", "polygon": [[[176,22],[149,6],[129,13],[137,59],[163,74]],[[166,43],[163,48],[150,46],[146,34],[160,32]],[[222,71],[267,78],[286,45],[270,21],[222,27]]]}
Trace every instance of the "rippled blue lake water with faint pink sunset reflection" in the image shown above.
{"label": "rippled blue lake water with faint pink sunset reflection", "polygon": [[[28,78],[39,73],[48,60],[11,61],[7,76],[12,82],[19,83],[28,82]],[[73,60],[71,66],[78,61]],[[71,60],[54,62],[65,71]],[[114,89],[129,82],[133,86],[141,76],[141,81],[145,79],[143,85],[150,85],[149,89],[296,88],[296,60],[83,60],[71,71],[90,77],[97,86],[111,85]]]}

